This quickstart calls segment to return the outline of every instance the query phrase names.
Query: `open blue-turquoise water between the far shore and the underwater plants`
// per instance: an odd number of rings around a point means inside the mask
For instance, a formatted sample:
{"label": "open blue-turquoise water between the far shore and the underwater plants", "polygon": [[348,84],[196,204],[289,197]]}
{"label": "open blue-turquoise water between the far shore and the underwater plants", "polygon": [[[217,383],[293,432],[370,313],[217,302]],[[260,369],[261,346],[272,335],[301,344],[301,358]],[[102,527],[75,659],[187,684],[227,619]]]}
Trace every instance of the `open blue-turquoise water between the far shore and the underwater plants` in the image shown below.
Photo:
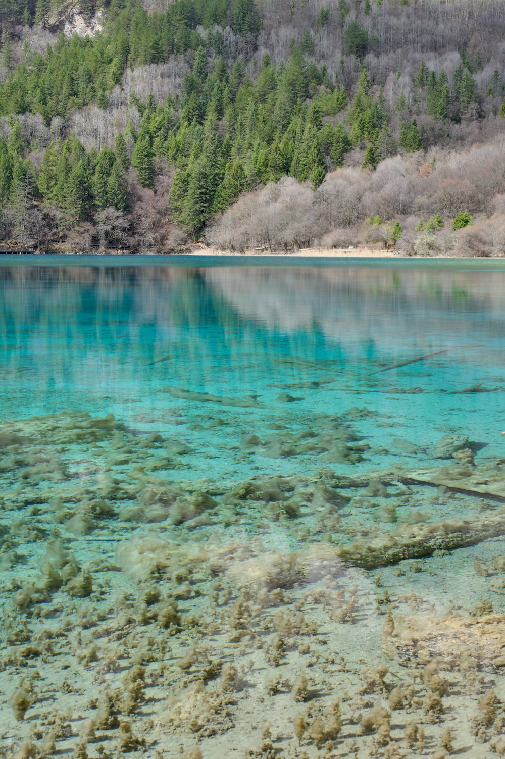
{"label": "open blue-turquoise water between the far shore and the underwater plants", "polygon": [[[360,430],[387,449],[380,465],[398,455],[398,436],[428,448],[442,433],[468,433],[487,446],[483,455],[503,453],[505,269],[116,262],[0,267],[4,418],[112,412],[173,433],[175,414],[178,437],[195,447],[191,463],[212,454],[204,465],[215,474],[251,465],[233,452],[245,433],[265,436],[273,421],[306,427],[355,406],[376,414]],[[255,396],[258,408],[167,389]],[[189,429],[202,417],[226,425]],[[295,458],[256,456],[254,466],[317,465]]]}

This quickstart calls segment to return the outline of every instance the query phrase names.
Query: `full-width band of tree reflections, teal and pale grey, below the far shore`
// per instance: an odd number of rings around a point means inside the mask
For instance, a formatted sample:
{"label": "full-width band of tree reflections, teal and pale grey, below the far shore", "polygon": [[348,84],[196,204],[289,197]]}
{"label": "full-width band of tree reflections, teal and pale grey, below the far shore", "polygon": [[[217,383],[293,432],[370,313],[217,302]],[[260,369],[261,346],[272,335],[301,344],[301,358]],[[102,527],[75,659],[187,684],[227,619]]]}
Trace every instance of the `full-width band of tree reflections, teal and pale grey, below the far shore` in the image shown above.
{"label": "full-width band of tree reflections, teal and pale grey, below the far shore", "polygon": [[279,332],[284,350],[305,358],[317,330],[331,344],[394,353],[439,330],[464,342],[463,317],[474,313],[481,336],[501,335],[504,285],[505,272],[390,266],[2,266],[2,364],[12,380],[39,367],[47,386],[95,371],[107,393],[118,377],[134,392],[155,371],[188,386],[191,366],[192,383],[216,389],[247,361],[246,392],[273,367]]}

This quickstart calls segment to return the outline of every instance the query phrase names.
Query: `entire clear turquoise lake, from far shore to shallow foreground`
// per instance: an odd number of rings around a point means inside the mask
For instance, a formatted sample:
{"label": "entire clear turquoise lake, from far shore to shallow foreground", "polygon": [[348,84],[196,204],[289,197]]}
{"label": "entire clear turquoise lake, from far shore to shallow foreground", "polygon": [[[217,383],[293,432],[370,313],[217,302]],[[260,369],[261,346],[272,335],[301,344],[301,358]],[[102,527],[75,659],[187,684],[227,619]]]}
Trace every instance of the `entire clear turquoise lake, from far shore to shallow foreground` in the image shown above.
{"label": "entire clear turquoise lake, from far shore to shallow foreground", "polygon": [[[489,607],[475,607],[491,599],[489,619],[503,627],[504,348],[505,265],[496,261],[2,257],[0,749],[14,756],[31,740],[42,751],[52,735],[68,756],[83,742],[90,757],[103,755],[100,745],[114,756],[178,757],[196,744],[204,757],[270,756],[260,734],[272,720],[271,750],[288,757],[292,720],[308,704],[309,757],[329,743],[329,756],[382,756],[390,741],[400,756],[424,755],[405,743],[401,710],[378,745],[380,725],[356,733],[352,715],[387,704],[409,666],[424,682],[427,651],[457,676],[455,634],[437,619],[480,619]],[[295,579],[282,574],[290,556],[305,562]],[[165,625],[158,606],[168,602],[181,619]],[[233,617],[239,603],[243,623]],[[310,635],[275,617],[296,604],[307,606],[306,628],[326,635],[311,641],[314,695],[299,699],[291,689]],[[417,645],[408,636],[403,647],[384,642],[388,609],[396,629],[429,614],[421,627],[437,635],[424,653],[406,660]],[[121,628],[141,655],[115,650]],[[52,652],[45,629],[58,641]],[[271,635],[291,641],[280,663],[257,642]],[[464,643],[487,674],[475,693],[444,691],[453,731],[474,718],[484,685],[505,697],[493,652]],[[194,664],[182,666],[188,651]],[[205,657],[221,662],[208,678]],[[363,691],[361,670],[380,657],[395,673]],[[235,659],[249,685],[225,708],[221,665]],[[133,666],[146,669],[147,695],[118,707],[117,724],[100,723],[98,694],[128,689]],[[332,666],[350,695],[342,729],[321,742],[310,723],[329,720]],[[284,683],[277,690],[265,685],[269,668]],[[65,671],[79,688],[64,685]],[[162,694],[160,672],[172,688]],[[200,681],[217,705],[195,727]],[[25,712],[8,701],[15,687],[26,691]],[[163,701],[179,691],[191,719]],[[409,709],[434,751],[446,717],[432,719],[425,692],[417,697]],[[54,727],[62,713],[66,730]],[[465,736],[462,755],[494,755],[500,729],[490,724],[478,741]]]}

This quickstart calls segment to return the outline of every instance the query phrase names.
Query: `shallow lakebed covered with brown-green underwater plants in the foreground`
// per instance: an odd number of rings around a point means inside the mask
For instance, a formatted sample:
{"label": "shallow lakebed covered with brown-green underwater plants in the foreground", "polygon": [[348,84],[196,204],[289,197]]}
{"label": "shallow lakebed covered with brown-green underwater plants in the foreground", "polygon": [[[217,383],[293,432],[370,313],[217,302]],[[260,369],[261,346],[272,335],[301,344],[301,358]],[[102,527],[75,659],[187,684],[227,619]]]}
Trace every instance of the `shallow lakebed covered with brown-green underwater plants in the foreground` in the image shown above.
{"label": "shallow lakebed covered with brown-green underwater plants in the foreground", "polygon": [[310,477],[219,481],[113,414],[3,422],[3,755],[503,755],[505,464],[336,474],[365,416],[241,441]]}

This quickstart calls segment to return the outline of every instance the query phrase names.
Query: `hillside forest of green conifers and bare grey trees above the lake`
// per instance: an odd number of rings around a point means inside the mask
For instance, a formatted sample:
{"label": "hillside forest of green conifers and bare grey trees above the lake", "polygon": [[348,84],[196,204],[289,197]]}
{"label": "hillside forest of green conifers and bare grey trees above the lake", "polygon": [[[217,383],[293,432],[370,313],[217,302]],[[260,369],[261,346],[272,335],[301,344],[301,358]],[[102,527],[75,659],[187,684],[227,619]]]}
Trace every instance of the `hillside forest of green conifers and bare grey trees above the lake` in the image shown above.
{"label": "hillside forest of green conifers and bare grey trees above the lake", "polygon": [[503,39],[503,0],[2,0],[2,247],[505,254]]}

